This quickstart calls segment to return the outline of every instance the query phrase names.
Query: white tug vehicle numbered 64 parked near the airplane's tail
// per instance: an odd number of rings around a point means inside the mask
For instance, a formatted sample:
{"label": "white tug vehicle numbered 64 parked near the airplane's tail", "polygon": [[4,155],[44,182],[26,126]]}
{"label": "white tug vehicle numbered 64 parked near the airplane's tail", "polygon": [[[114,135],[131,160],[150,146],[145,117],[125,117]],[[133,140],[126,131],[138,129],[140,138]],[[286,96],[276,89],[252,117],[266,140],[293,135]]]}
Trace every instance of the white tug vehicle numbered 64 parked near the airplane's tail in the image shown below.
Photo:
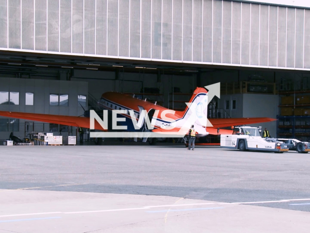
{"label": "white tug vehicle numbered 64 parked near the airplane's tail", "polygon": [[261,150],[283,153],[288,151],[285,143],[274,138],[262,138],[260,129],[256,127],[235,127],[233,134],[221,134],[221,147],[227,149]]}

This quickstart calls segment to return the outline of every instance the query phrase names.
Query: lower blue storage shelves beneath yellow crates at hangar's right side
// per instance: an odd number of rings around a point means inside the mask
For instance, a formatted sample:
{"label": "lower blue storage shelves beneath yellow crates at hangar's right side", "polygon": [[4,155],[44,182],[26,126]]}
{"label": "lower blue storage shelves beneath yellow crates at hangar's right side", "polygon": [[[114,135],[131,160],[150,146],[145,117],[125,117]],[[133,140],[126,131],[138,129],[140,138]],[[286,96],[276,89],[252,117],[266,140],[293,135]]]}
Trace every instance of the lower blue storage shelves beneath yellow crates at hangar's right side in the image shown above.
{"label": "lower blue storage shelves beneath yellow crates at hangar's right side", "polygon": [[277,116],[277,137],[310,141],[310,116]]}

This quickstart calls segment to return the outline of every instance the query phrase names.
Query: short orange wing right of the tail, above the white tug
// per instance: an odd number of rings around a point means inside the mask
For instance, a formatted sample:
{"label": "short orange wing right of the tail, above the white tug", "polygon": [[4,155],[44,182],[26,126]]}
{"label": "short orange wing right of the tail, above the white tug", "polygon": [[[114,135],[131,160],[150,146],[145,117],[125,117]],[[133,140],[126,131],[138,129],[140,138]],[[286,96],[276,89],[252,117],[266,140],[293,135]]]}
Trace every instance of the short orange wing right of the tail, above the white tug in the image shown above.
{"label": "short orange wing right of the tail, above the white tug", "polygon": [[248,125],[248,124],[269,122],[277,119],[268,117],[253,117],[253,118],[220,118],[220,119],[211,118],[208,120],[213,125],[213,128],[224,128],[236,125]]}

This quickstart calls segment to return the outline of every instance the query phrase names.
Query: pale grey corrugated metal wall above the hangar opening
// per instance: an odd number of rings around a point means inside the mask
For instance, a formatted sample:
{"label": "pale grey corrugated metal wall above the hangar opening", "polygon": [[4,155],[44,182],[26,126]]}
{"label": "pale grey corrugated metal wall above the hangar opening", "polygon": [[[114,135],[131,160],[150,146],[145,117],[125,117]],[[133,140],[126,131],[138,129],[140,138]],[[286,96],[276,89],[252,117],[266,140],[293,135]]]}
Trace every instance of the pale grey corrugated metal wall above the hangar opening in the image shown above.
{"label": "pale grey corrugated metal wall above the hangar opening", "polygon": [[310,10],[229,0],[0,0],[0,48],[310,69]]}

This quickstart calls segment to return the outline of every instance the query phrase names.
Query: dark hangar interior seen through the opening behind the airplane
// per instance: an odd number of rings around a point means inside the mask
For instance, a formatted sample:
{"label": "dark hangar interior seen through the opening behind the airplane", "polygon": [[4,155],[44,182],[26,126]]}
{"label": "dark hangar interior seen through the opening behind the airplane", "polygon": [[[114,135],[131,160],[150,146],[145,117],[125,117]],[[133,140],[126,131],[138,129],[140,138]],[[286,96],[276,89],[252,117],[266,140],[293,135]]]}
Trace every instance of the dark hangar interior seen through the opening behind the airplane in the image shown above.
{"label": "dark hangar interior seen through the opening behind the airplane", "polygon": [[[96,101],[109,91],[135,95],[169,109],[184,110],[185,102],[197,86],[220,82],[221,99],[215,97],[211,101],[209,118],[276,118],[281,116],[278,105],[282,94],[290,95],[285,91],[310,89],[310,75],[302,71],[183,67],[181,65],[184,64],[70,58],[2,54],[0,91],[3,100],[0,100],[0,111],[82,116],[84,109],[95,108]],[[18,103],[11,101],[16,101],[16,93]],[[31,93],[32,103],[29,100]],[[10,131],[25,137],[29,127],[55,135],[77,134],[75,127],[40,122],[32,124],[22,119],[10,121],[3,117],[1,121],[1,139],[6,139]],[[279,130],[277,122],[261,126],[268,128],[273,136]],[[87,134],[84,139],[88,139]]]}

